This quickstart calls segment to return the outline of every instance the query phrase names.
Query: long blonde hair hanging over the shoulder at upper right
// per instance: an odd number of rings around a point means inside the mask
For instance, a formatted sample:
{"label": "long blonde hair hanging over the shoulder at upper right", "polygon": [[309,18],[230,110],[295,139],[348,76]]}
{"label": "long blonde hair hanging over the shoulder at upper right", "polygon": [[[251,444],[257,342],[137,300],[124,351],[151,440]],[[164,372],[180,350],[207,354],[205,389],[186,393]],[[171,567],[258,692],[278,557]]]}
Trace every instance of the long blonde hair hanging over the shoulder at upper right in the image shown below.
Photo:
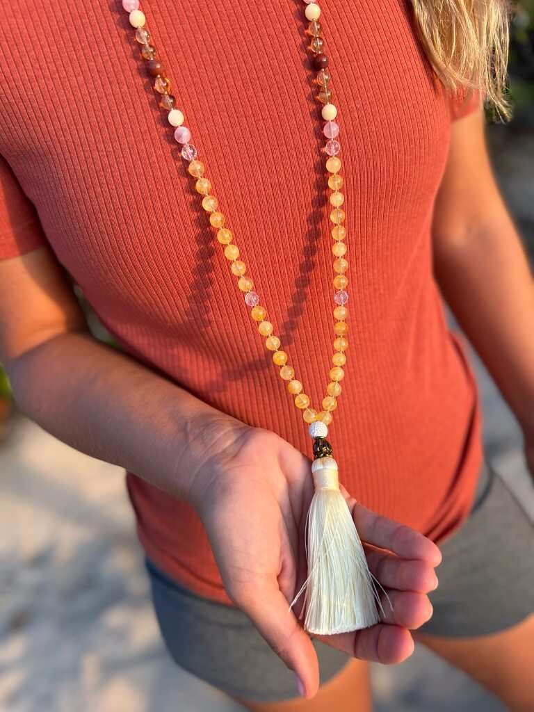
{"label": "long blonde hair hanging over the shoulder at upper right", "polygon": [[509,14],[507,0],[412,0],[426,56],[454,93],[481,90],[502,118],[506,99]]}

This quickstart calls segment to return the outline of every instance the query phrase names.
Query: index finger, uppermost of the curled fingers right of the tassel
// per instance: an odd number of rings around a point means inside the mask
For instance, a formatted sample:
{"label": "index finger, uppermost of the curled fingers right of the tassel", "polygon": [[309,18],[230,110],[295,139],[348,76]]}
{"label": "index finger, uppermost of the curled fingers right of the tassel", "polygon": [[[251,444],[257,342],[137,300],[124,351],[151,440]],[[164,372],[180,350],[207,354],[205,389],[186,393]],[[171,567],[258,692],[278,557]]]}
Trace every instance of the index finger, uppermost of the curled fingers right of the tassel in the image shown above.
{"label": "index finger, uppermost of the curled fingers right of the tassel", "polygon": [[[347,493],[342,488],[343,493]],[[367,509],[354,497],[348,496],[347,505],[360,534],[360,538],[374,546],[389,549],[404,559],[422,559],[432,566],[441,562],[439,548],[423,534],[404,524]]]}

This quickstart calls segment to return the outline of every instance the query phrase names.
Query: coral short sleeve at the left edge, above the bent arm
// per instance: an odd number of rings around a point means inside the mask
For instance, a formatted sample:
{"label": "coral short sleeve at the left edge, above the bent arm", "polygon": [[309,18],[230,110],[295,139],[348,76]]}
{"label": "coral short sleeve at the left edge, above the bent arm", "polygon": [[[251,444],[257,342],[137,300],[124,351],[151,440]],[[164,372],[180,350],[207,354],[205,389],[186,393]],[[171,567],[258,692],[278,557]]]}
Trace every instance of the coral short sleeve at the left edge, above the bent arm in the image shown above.
{"label": "coral short sleeve at the left edge, above the bent arm", "polygon": [[0,156],[0,259],[17,257],[46,244],[33,203]]}

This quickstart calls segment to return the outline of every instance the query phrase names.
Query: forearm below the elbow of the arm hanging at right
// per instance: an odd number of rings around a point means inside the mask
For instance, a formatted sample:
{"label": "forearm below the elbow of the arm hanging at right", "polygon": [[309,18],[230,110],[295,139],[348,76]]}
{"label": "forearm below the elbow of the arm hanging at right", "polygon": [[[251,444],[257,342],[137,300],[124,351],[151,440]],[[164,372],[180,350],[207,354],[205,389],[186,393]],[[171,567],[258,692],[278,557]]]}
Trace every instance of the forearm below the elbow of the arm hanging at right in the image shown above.
{"label": "forearm below the elbow of the arm hanging at right", "polygon": [[434,245],[441,292],[523,429],[534,429],[534,281],[502,210],[461,239]]}

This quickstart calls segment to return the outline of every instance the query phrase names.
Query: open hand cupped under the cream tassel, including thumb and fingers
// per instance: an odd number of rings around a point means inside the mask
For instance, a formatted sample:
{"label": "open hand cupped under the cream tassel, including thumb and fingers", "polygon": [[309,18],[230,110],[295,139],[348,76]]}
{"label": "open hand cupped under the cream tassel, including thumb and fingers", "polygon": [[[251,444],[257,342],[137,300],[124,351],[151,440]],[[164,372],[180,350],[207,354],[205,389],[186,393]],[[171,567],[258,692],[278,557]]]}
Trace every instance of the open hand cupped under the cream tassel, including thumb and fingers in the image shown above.
{"label": "open hand cupped under the cream tassel, including thumb and fingers", "polygon": [[[206,528],[230,600],[298,674],[310,698],[318,690],[319,673],[310,635],[298,622],[303,595],[288,612],[307,576],[310,460],[271,431],[239,424],[235,437],[226,436],[224,449],[207,459],[194,478],[189,501]],[[367,543],[370,570],[387,591],[393,611],[385,600],[383,622],[315,637],[360,659],[402,662],[414,648],[409,629],[431,616],[426,593],[437,585],[434,567],[441,553],[422,534],[373,513],[341,489]]]}

